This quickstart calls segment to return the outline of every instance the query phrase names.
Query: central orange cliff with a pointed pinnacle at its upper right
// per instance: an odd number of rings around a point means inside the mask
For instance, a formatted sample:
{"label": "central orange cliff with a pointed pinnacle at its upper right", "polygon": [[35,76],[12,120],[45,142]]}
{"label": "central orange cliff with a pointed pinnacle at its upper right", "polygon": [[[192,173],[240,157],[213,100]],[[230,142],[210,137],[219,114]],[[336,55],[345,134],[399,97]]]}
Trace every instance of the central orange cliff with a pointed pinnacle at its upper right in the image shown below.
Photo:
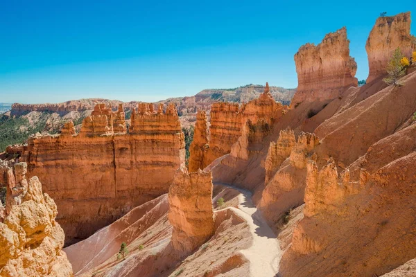
{"label": "central orange cliff with a pointed pinnacle at its upper right", "polygon": [[[193,150],[191,153],[189,164],[193,167],[189,170],[198,169],[194,166],[197,163],[203,169],[229,153],[248,159],[249,151],[256,151],[255,148],[261,144],[263,137],[270,133],[273,123],[283,116],[286,111],[284,107],[286,106],[272,98],[268,83],[259,98],[244,103],[241,107],[233,103],[215,103],[211,108],[209,139],[197,138],[193,143],[193,148],[198,151]],[[204,123],[198,124],[198,134],[202,132],[205,136],[205,127]]]}

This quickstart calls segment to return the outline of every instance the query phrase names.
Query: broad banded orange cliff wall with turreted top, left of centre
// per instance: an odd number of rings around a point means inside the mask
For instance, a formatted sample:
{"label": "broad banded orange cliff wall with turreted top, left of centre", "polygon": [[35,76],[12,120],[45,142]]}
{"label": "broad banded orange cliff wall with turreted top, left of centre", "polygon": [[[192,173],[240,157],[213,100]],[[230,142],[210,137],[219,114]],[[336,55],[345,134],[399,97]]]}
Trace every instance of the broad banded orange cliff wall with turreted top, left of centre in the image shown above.
{"label": "broad banded orange cliff wall with turreted top, left of centre", "polygon": [[125,132],[123,107],[96,105],[80,134],[32,136],[21,152],[58,205],[67,244],[92,235],[131,208],[168,191],[184,163],[184,134],[173,105],[141,104]]}

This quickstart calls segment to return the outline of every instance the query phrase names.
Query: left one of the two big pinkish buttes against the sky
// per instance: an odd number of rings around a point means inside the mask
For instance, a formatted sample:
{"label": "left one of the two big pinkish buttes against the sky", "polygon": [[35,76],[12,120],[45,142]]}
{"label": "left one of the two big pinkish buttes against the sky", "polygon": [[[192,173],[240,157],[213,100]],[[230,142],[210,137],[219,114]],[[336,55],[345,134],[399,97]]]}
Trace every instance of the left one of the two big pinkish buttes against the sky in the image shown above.
{"label": "left one of the two big pinkish buttes against the sky", "polygon": [[337,98],[357,86],[357,65],[349,56],[347,29],[327,34],[317,46],[305,44],[295,54],[297,92],[291,107],[301,102]]}

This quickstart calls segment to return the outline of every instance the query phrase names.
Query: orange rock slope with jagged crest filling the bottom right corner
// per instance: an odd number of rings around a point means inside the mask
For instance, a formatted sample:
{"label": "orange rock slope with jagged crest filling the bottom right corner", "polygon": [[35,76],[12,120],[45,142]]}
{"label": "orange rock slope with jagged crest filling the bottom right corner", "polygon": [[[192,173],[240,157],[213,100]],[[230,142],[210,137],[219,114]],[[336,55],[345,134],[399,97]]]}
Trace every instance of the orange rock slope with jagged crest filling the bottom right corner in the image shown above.
{"label": "orange rock slope with jagged crest filling the bottom right corner", "polygon": [[411,199],[416,189],[411,184],[416,181],[416,152],[402,154],[386,155],[386,165],[373,174],[358,169],[354,179],[348,169],[338,174],[332,160],[321,170],[309,161],[304,219],[295,228],[279,273],[381,276],[415,257]]}

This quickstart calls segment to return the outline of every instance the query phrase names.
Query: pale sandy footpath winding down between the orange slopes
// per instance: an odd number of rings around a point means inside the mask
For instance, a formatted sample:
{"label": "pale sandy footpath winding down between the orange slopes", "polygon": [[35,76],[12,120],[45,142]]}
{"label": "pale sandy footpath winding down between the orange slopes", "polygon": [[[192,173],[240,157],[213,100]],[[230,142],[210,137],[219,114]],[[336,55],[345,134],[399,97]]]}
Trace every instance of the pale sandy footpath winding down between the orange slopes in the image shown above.
{"label": "pale sandy footpath winding down between the orange slopes", "polygon": [[232,210],[248,223],[252,233],[252,246],[241,250],[241,253],[250,261],[250,276],[276,276],[283,251],[280,249],[275,233],[272,232],[260,211],[257,211],[256,206],[254,206],[252,193],[236,186],[218,185],[234,188],[241,193],[239,195],[239,208],[232,207]]}

